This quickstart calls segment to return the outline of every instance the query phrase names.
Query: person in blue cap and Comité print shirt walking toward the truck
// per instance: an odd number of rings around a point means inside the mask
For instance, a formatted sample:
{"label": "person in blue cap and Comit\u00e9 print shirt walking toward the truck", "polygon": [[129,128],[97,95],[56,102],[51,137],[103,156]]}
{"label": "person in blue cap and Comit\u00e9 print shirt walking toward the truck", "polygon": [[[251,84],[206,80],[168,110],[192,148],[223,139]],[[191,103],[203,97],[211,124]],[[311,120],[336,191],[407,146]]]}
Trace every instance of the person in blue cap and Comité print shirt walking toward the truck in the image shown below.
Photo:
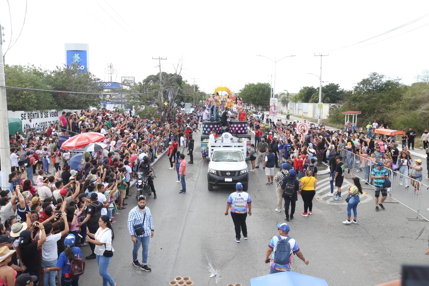
{"label": "person in blue cap and Comit\u00e9 print shirt walking toward the truck", "polygon": [[236,191],[230,194],[227,200],[227,210],[225,215],[228,215],[228,210],[231,208],[231,217],[234,222],[236,230],[236,242],[240,242],[241,232],[243,232],[244,239],[247,239],[247,226],[246,218],[247,214],[252,215],[252,200],[248,193],[243,192],[243,184],[236,184]]}

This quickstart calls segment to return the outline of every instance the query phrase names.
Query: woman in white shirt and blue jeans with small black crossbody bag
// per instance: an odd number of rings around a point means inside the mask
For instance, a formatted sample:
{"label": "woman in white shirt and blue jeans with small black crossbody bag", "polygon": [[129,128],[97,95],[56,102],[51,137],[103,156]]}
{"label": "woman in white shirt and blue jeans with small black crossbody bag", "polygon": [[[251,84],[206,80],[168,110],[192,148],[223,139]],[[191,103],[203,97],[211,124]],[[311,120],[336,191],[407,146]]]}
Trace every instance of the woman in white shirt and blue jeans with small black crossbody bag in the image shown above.
{"label": "woman in white shirt and blue jeans with small black crossbody bag", "polygon": [[98,225],[100,227],[97,229],[95,234],[90,233],[89,229],[87,228],[86,241],[95,244],[94,253],[97,256],[98,271],[101,277],[103,277],[102,285],[107,286],[107,283],[109,283],[110,286],[117,286],[115,281],[113,281],[112,276],[110,276],[109,272],[107,272],[107,268],[109,267],[112,257],[103,256],[104,251],[106,250],[115,251],[112,247],[112,241],[115,238],[115,235],[113,234],[109,217],[107,215],[102,215],[98,219]]}

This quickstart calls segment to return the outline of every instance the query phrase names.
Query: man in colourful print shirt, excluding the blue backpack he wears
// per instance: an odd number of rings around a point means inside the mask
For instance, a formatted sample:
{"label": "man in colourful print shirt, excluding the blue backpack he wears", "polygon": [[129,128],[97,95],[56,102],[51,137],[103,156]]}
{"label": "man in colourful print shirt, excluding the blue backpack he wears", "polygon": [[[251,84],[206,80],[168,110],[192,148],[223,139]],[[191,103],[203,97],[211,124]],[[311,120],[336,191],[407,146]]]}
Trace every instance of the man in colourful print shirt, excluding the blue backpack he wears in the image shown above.
{"label": "man in colourful print shirt, excluding the blue backpack he wears", "polygon": [[[298,243],[295,239],[289,238],[289,232],[290,232],[290,226],[287,223],[277,224],[278,234],[271,238],[271,241],[268,244],[268,249],[265,255],[265,263],[270,263],[270,271],[269,274],[283,272],[283,271],[290,271],[290,263],[292,262],[292,252],[296,254],[296,256],[301,259],[305,265],[308,265],[308,260],[304,258],[304,255],[302,255],[301,250],[299,250]],[[290,244],[290,258],[289,263],[285,265],[277,264],[275,263],[275,253],[277,248],[277,242],[280,239],[287,239],[288,243]],[[269,259],[269,256],[273,253],[272,258]]]}

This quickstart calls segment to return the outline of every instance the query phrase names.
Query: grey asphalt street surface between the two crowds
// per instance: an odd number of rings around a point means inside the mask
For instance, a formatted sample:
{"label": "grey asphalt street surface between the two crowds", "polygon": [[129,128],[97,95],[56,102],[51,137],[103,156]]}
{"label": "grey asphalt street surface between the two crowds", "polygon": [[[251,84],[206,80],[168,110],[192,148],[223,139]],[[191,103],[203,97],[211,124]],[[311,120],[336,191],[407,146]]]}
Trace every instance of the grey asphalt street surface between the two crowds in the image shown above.
{"label": "grey asphalt street surface between the two crowds", "polygon": [[[195,150],[199,136],[194,135]],[[133,243],[127,231],[127,214],[136,205],[127,199],[127,209],[115,217],[113,224],[115,253],[109,273],[118,286],[168,285],[176,276],[189,276],[194,285],[250,285],[250,279],[269,273],[264,263],[272,236],[278,235],[277,223],[284,222],[284,213],[277,205],[275,186],[266,186],[262,168],[250,172],[248,193],[252,199],[252,216],[247,218],[248,240],[234,241],[231,216],[225,216],[226,201],[234,188],[215,187],[207,190],[207,165],[198,152],[194,164],[187,167],[187,193],[179,195],[177,175],[169,170],[166,154],[154,164],[157,199],[148,198],[154,220],[154,238],[149,245],[148,265],[151,272],[131,264]],[[185,158],[189,161],[189,156]],[[250,163],[249,163],[250,166]],[[305,265],[296,256],[292,271],[326,279],[329,286],[377,285],[400,278],[402,263],[427,263],[427,222],[409,221],[410,211],[399,204],[386,204],[386,210],[374,211],[374,191],[364,190],[358,205],[358,224],[344,225],[347,204],[326,196],[327,175],[319,176],[313,215],[302,217],[302,199],[296,204],[295,219],[289,222],[290,236],[295,238],[306,259]],[[343,192],[351,181],[345,181]],[[132,187],[131,194],[136,189]],[[82,247],[83,256],[90,254]],[[141,262],[141,252],[139,253]],[[217,276],[210,278],[213,272]],[[86,261],[80,285],[101,285],[95,260]]]}

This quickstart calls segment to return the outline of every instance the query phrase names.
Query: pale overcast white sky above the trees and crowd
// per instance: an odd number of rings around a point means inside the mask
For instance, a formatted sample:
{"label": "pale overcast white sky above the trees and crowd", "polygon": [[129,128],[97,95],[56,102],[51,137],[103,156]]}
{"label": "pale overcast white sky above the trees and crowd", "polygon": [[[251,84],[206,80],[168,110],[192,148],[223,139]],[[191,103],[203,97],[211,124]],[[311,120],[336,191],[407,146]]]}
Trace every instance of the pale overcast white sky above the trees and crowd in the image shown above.
{"label": "pale overcast white sky above the trees and crowd", "polygon": [[[3,53],[20,33],[26,1],[9,4],[0,0]],[[102,81],[109,63],[114,81],[142,81],[159,72],[152,57],[163,57],[164,72],[181,63],[184,80],[195,78],[206,93],[257,82],[275,82],[275,93],[297,93],[319,86],[314,54],[321,53],[329,54],[322,57],[323,84],[351,89],[371,72],[411,84],[429,69],[427,13],[424,0],[29,0],[5,62],[55,69],[65,63],[65,43],[85,43],[89,69]]]}

